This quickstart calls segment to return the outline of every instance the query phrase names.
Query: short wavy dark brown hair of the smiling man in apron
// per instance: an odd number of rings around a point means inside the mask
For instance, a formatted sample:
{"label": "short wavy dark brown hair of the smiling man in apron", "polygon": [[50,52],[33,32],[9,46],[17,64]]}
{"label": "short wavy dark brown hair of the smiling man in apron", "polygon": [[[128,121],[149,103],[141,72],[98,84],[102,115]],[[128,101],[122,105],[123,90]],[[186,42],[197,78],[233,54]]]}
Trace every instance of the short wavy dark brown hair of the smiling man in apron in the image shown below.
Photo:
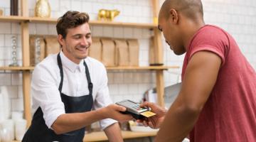
{"label": "short wavy dark brown hair of the smiling man in apron", "polygon": [[89,23],[89,15],[84,12],[67,11],[63,16],[58,18],[56,29],[58,35],[62,35],[63,38],[67,35],[68,28],[75,28],[83,23]]}

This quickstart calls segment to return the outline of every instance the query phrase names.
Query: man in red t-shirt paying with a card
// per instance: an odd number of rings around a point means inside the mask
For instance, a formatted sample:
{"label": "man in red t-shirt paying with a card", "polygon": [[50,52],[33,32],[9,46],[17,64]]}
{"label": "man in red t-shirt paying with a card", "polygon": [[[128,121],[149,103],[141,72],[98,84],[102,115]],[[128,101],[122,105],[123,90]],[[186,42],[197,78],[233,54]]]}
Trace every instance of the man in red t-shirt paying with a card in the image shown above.
{"label": "man in red t-shirt paying with a card", "polygon": [[256,141],[256,73],[226,31],[205,25],[200,0],[166,0],[159,30],[176,55],[186,53],[182,87],[165,111],[144,125],[160,128],[157,142]]}

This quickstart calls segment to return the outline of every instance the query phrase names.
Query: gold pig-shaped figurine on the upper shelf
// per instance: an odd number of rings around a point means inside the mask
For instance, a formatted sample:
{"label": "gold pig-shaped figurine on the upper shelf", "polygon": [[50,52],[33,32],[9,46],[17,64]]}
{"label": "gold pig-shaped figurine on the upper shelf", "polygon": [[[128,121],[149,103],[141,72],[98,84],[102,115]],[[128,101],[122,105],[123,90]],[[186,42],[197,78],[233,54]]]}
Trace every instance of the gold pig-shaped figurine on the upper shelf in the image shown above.
{"label": "gold pig-shaped figurine on the upper shelf", "polygon": [[107,9],[100,9],[98,13],[98,20],[105,20],[105,21],[113,21],[115,16],[118,16],[120,11],[117,9],[114,10],[107,10]]}

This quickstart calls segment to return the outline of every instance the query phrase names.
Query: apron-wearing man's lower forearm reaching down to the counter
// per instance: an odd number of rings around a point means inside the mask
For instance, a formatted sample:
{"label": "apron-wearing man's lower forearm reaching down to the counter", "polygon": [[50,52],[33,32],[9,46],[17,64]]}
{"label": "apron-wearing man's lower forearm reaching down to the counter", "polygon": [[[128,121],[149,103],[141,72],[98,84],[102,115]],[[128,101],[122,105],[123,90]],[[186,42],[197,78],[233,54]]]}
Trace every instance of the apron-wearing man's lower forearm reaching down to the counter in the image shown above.
{"label": "apron-wearing man's lower forearm reaching down to the counter", "polygon": [[108,126],[104,131],[110,142],[123,142],[122,133],[118,123]]}

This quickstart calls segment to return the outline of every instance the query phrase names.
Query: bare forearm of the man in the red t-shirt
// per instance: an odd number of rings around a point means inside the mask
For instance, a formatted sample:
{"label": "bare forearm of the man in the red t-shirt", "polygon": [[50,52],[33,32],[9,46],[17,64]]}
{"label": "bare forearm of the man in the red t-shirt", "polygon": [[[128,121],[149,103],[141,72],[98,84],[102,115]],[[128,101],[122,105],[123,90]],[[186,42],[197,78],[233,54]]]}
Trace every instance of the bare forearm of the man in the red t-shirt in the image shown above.
{"label": "bare forearm of the man in the red t-shirt", "polygon": [[182,106],[178,103],[167,112],[159,133],[156,136],[156,142],[180,142],[188,136],[193,129],[193,125],[198,119],[199,110]]}

